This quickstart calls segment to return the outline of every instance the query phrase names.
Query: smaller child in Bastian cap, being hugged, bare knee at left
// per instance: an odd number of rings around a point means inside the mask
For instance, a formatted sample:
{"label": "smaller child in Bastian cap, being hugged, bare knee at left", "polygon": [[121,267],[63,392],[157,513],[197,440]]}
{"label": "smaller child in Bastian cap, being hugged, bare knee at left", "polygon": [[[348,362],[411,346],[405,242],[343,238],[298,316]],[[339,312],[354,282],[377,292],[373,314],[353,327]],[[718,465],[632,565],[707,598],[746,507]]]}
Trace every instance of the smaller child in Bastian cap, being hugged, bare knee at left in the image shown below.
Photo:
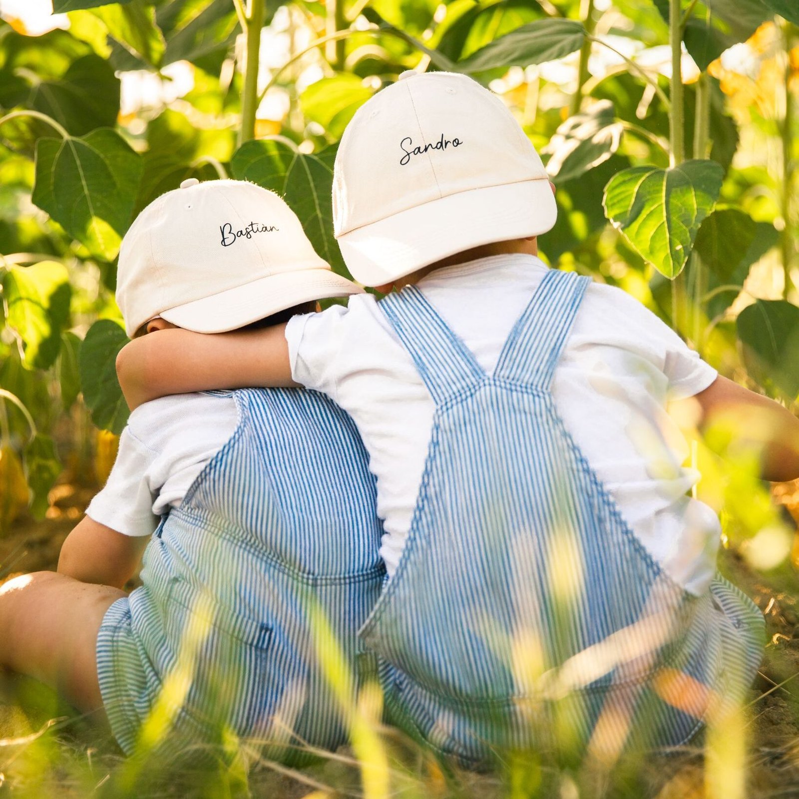
{"label": "smaller child in Bastian cap, being hugged, bare knee at left", "polygon": [[[244,181],[185,181],[121,245],[117,301],[134,339],[260,329],[360,292],[280,197]],[[0,590],[0,665],[105,716],[126,753],[157,708],[173,752],[231,733],[284,759],[297,759],[284,748],[293,736],[335,749],[346,731],[310,614],[327,619],[354,669],[356,630],[384,578],[374,505],[355,427],[320,394],[145,403],[59,574]],[[142,552],[142,586],[128,596]]]}

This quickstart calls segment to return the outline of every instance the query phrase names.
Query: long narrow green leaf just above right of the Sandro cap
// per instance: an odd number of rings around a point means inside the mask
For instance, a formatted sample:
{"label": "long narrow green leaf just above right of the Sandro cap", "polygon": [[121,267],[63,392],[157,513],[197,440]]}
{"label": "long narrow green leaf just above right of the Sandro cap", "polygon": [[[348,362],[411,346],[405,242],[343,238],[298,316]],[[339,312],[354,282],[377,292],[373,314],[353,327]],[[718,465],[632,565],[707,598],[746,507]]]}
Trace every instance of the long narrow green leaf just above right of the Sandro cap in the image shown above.
{"label": "long narrow green leaf just above right of the Sandro cap", "polygon": [[555,61],[582,47],[586,30],[573,19],[547,18],[523,25],[477,50],[455,67],[475,73],[503,66],[530,66]]}

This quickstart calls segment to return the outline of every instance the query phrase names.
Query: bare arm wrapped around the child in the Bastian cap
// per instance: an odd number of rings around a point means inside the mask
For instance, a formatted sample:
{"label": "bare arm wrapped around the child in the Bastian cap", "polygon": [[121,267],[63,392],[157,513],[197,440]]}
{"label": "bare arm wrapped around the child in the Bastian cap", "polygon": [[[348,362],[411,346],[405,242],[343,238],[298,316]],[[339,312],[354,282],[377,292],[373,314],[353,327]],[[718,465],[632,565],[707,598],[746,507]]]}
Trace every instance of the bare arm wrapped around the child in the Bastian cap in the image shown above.
{"label": "bare arm wrapped around the child in the Bastian cap", "polygon": [[215,388],[293,387],[285,324],[229,333],[160,330],[117,356],[117,376],[131,410],[168,394]]}

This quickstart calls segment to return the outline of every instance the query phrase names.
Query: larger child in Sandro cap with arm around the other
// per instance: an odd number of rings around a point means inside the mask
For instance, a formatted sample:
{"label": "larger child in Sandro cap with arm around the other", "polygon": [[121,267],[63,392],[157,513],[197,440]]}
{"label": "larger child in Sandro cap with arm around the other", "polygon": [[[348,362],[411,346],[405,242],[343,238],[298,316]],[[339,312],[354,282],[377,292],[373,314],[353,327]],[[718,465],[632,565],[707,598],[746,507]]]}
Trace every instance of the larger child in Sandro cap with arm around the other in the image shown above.
{"label": "larger child in Sandro cap with arm around the other", "polygon": [[361,634],[390,717],[439,752],[486,761],[555,729],[603,756],[690,739],[741,698],[763,620],[717,574],[718,519],[666,403],[761,415],[765,479],[799,475],[799,420],[625,292],[547,268],[547,173],[470,78],[403,74],[362,106],[333,212],[353,276],[392,293],[133,342],[129,401],[299,384],[352,415],[390,575]]}

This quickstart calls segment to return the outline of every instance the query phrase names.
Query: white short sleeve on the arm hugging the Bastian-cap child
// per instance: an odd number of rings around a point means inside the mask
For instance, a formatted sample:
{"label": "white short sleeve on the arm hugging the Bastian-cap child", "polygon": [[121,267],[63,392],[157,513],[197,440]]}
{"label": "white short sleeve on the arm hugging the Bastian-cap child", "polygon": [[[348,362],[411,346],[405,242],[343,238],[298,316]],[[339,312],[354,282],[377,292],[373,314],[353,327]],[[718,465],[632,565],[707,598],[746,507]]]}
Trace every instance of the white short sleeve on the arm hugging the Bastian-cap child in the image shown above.
{"label": "white short sleeve on the arm hugging the Bastian-cap child", "polygon": [[292,380],[333,400],[347,313],[344,306],[331,305],[320,313],[293,316],[286,325]]}

